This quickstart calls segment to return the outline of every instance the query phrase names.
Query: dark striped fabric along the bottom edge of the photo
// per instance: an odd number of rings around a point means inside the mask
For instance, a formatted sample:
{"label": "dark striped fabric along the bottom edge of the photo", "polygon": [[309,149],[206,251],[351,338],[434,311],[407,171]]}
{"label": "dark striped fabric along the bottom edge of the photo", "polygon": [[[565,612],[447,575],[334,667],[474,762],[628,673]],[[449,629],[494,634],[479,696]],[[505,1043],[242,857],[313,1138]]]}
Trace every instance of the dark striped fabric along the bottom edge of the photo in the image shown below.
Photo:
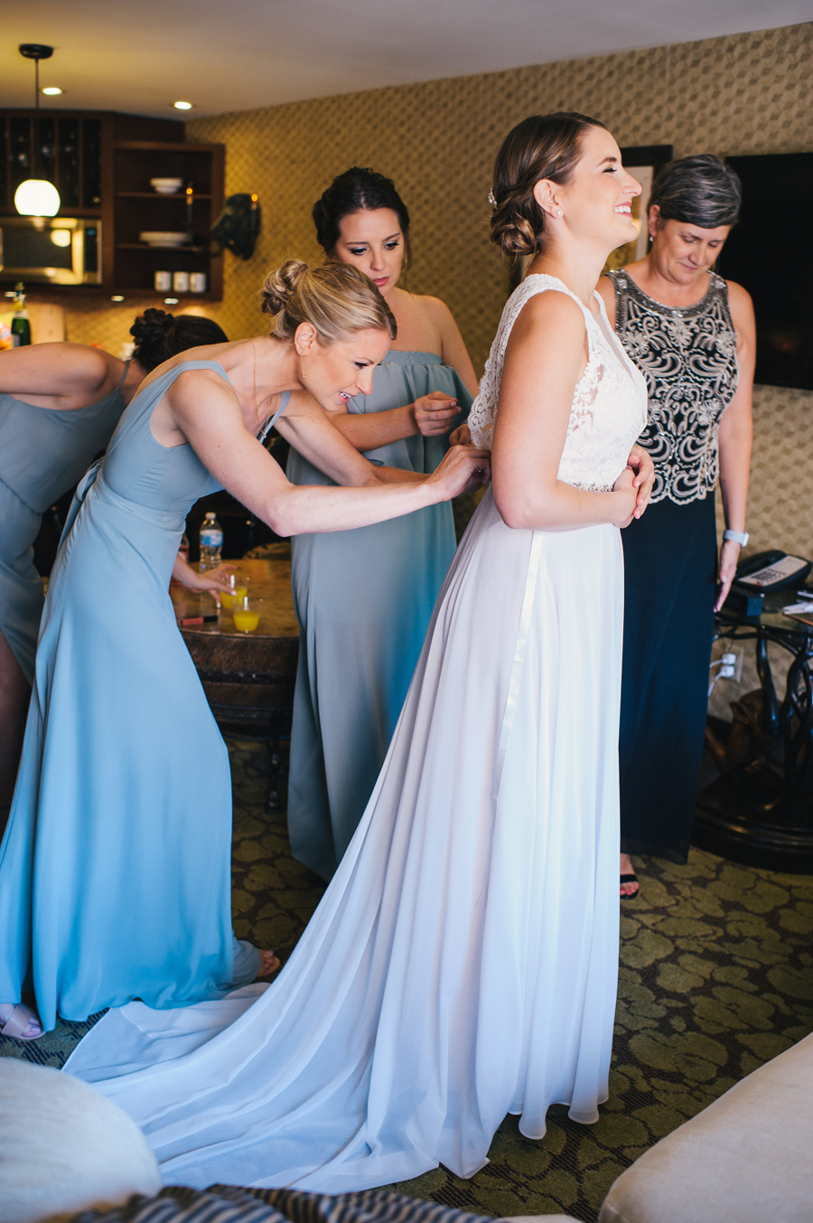
{"label": "dark striped fabric along the bottom edge of the photo", "polygon": [[131,1197],[112,1211],[83,1211],[71,1223],[491,1223],[438,1202],[367,1189],[303,1194],[296,1189],[207,1190],[170,1185],[158,1197]]}

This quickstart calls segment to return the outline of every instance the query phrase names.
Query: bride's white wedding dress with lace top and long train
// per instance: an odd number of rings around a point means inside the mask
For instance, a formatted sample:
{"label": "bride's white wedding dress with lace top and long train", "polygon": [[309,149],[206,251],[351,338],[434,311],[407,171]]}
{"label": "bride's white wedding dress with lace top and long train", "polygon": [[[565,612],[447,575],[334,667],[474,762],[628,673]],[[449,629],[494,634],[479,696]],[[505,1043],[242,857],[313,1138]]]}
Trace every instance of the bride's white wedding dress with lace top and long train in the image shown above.
{"label": "bride's white wedding dress with lace top and long train", "polygon": [[[506,303],[472,410],[480,444],[511,325],[545,290],[568,292],[534,275]],[[584,319],[559,475],[608,489],[647,395],[604,307]],[[597,1120],[617,977],[622,589],[615,527],[510,530],[485,494],[364,817],[279,978],[111,1010],[67,1063],[136,1119],[166,1181],[344,1192],[439,1163],[471,1177],[506,1113],[529,1137],[553,1102]]]}

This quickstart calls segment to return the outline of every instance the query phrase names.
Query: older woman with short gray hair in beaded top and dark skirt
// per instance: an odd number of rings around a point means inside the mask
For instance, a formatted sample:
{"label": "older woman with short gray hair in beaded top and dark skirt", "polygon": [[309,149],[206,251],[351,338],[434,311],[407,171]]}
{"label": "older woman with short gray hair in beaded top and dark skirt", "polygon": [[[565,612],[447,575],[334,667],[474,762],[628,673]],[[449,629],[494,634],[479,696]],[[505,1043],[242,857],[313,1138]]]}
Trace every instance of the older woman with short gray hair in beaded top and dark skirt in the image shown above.
{"label": "older woman with short gray hair in beaded top and dark skirt", "polygon": [[[748,539],[753,307],[745,289],[712,270],[740,204],[740,180],[719,158],[671,161],[649,198],[649,253],[598,286],[647,379],[639,443],[655,464],[649,509],[622,532],[622,896],[638,892],[630,854],[686,861],[714,612]],[[726,525],[719,561],[718,478]]]}

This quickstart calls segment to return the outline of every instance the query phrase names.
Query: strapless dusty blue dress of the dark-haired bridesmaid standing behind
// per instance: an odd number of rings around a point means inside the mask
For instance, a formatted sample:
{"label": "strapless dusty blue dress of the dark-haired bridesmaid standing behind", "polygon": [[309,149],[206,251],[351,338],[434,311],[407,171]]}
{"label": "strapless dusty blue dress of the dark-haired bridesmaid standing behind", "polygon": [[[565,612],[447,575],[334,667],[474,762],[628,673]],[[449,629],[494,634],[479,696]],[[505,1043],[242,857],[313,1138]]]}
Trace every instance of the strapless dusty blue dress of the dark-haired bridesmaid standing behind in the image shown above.
{"label": "strapless dusty blue dress of the dark-haired bridesmaid standing behind", "polygon": [[[434,352],[388,352],[373,394],[348,412],[385,412],[444,391],[466,418],[472,396]],[[366,453],[375,464],[432,472],[446,437],[416,434]],[[333,484],[296,450],[293,484]],[[438,592],[456,548],[449,501],[356,531],[292,541],[300,665],[291,731],[289,835],[293,856],[330,879],[375,785]]]}

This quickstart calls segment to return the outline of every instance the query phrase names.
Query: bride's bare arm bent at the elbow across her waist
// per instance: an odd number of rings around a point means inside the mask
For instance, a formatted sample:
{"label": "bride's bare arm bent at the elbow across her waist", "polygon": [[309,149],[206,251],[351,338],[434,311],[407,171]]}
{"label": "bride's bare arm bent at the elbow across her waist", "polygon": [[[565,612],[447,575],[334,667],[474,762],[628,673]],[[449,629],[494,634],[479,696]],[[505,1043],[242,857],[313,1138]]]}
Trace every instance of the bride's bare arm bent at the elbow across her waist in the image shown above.
{"label": "bride's bare arm bent at the elbow across her waist", "polygon": [[549,290],[526,302],[505,352],[491,454],[494,500],[510,527],[568,531],[632,519],[637,490],[628,467],[610,493],[582,492],[557,478],[586,360],[575,301]]}

